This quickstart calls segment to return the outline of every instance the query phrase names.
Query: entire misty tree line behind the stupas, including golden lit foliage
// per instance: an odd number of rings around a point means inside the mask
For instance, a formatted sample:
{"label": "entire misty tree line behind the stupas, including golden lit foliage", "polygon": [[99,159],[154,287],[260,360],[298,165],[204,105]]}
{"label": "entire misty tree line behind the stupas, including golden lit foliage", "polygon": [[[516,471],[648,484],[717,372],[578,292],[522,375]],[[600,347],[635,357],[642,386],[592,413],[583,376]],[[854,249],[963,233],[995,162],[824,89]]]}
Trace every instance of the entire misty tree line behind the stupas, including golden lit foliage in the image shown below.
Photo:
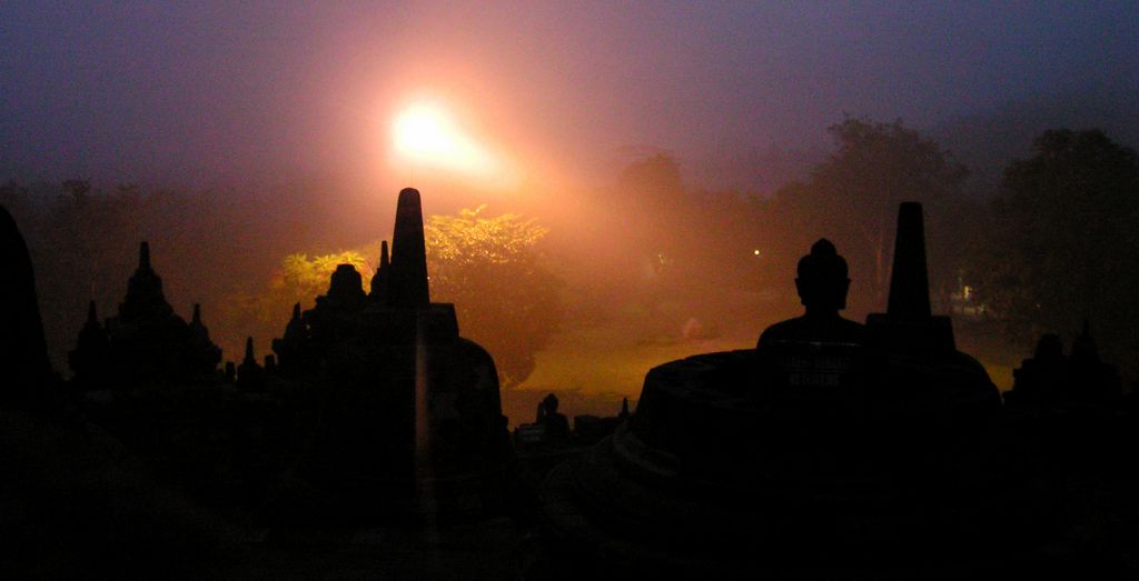
{"label": "entire misty tree line behind the stupas, including golden lit foliage", "polygon": [[[884,308],[898,202],[916,200],[926,207],[932,290],[942,310],[969,287],[986,307],[982,332],[1000,333],[1025,354],[1040,333],[1072,335],[1088,319],[1105,356],[1137,371],[1134,150],[1100,131],[1047,131],[982,198],[966,193],[968,169],[952,152],[901,121],[846,118],[829,132],[830,152],[773,192],[688,189],[666,153],[628,166],[620,196],[601,208],[620,265],[606,285],[642,292],[648,317],[670,293],[699,284],[778,287],[786,302],[794,299],[798,257],[826,236],[851,265],[850,313],[860,317]],[[100,316],[114,314],[142,239],[151,242],[175,310],[187,316],[190,304],[202,302],[228,358],[246,334],[268,346],[293,302],[308,307],[323,292],[335,264],[375,268],[378,241],[351,256],[311,251],[329,246],[312,232],[343,223],[342,208],[314,205],[319,198],[319,189],[304,188],[107,191],[84,180],[0,186],[0,204],[28,240],[60,370],[87,302],[95,299]],[[544,234],[533,218],[480,210],[428,224],[434,296],[458,305],[465,333],[501,358],[507,383],[533,368],[534,354],[565,316],[563,299],[585,292],[558,282],[563,265],[542,251]]]}

